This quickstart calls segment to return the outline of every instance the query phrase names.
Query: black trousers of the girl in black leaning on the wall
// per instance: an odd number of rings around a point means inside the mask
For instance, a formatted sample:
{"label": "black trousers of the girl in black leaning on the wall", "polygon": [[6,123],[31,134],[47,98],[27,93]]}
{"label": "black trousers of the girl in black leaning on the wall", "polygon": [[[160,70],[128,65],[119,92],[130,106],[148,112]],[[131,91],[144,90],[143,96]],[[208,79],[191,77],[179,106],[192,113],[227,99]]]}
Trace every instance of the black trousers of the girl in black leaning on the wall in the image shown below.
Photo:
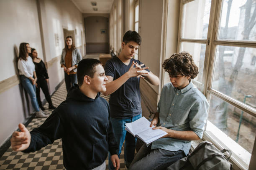
{"label": "black trousers of the girl in black leaning on the wall", "polygon": [[36,98],[37,98],[37,102],[39,107],[43,107],[42,102],[41,102],[41,97],[40,97],[40,88],[43,90],[44,92],[44,96],[46,98],[46,101],[49,103],[49,106],[52,106],[52,102],[51,102],[51,96],[49,94],[49,89],[48,89],[48,85],[47,82],[45,80],[44,77],[39,78],[37,81],[37,87],[36,87]]}

